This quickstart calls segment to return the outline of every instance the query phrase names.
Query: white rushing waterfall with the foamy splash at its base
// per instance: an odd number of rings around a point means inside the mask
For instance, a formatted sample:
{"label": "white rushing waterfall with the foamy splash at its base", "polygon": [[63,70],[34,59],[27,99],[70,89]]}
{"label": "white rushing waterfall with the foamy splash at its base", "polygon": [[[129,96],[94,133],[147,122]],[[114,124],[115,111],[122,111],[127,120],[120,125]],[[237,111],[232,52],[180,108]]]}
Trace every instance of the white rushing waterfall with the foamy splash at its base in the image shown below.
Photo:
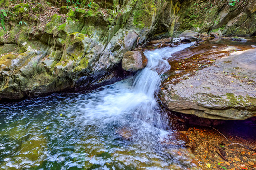
{"label": "white rushing waterfall with the foamy splash at its base", "polygon": [[79,121],[101,129],[125,127],[132,131],[133,141],[157,143],[157,138],[171,128],[165,115],[160,114],[154,95],[159,90],[161,75],[170,69],[167,59],[172,53],[189,46],[181,44],[174,48],[145,51],[148,64],[134,77],[86,95],[84,104],[79,105],[83,113]]}

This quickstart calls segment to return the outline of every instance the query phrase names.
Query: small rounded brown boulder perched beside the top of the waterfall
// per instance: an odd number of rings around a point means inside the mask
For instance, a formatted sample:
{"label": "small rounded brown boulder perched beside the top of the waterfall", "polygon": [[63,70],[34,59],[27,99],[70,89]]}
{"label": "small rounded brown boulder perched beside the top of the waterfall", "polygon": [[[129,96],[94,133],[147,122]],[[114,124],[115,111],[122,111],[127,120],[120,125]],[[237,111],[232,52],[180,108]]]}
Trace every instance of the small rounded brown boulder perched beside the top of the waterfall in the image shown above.
{"label": "small rounded brown boulder perched beside the top of the waterfall", "polygon": [[146,67],[148,59],[142,51],[128,51],[122,59],[122,68],[126,71],[137,71]]}

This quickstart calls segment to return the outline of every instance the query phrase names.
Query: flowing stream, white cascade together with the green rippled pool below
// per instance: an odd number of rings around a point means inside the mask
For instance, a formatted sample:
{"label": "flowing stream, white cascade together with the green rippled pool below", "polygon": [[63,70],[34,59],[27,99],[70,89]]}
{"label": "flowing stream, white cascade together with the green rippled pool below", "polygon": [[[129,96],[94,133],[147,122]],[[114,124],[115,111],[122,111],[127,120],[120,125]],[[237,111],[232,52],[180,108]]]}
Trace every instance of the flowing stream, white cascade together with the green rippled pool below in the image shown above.
{"label": "flowing stream, white cascade together with the green rippled pool below", "polygon": [[[0,169],[170,170],[191,167],[190,156],[155,93],[171,54],[189,47],[146,51],[134,77],[88,93],[0,104]],[[175,144],[170,144],[170,140]]]}

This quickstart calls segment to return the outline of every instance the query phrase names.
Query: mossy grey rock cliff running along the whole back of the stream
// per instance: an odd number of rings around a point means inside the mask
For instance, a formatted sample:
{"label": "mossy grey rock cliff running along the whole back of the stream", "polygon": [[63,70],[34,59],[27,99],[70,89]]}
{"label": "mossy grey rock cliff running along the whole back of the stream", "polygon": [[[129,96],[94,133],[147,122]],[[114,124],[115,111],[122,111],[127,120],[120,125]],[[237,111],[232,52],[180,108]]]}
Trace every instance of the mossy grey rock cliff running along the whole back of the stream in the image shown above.
{"label": "mossy grey rock cliff running along the whole back of the stream", "polygon": [[152,37],[177,36],[186,29],[255,34],[253,1],[246,8],[223,4],[203,13],[200,4],[206,1],[198,1],[197,6],[191,0],[82,2],[86,9],[50,0],[44,6],[0,1],[7,14],[0,30],[0,99],[79,90],[110,81],[124,53]]}

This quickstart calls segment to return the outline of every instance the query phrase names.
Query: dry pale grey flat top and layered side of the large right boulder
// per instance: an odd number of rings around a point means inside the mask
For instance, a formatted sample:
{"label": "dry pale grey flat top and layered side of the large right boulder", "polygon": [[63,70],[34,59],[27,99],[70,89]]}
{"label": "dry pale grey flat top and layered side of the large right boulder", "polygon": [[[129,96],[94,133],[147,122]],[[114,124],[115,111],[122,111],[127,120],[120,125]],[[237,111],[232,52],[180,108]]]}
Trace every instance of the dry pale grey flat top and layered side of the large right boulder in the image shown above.
{"label": "dry pale grey flat top and layered side of the large right boulder", "polygon": [[210,119],[256,116],[256,49],[233,52],[216,62],[180,83],[166,83],[163,105]]}

